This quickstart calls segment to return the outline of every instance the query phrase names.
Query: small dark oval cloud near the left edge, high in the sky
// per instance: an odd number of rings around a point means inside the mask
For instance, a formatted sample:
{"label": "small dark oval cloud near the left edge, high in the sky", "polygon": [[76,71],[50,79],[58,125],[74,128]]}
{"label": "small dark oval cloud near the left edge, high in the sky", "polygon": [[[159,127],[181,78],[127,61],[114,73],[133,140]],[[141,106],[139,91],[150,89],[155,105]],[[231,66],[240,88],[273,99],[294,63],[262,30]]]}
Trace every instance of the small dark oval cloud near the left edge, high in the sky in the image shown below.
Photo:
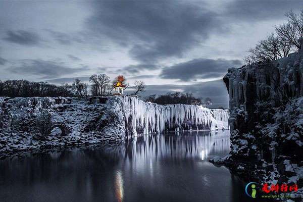
{"label": "small dark oval cloud near the left edge, high in the sky", "polygon": [[36,33],[24,30],[8,30],[6,34],[4,40],[21,45],[37,45],[41,40]]}

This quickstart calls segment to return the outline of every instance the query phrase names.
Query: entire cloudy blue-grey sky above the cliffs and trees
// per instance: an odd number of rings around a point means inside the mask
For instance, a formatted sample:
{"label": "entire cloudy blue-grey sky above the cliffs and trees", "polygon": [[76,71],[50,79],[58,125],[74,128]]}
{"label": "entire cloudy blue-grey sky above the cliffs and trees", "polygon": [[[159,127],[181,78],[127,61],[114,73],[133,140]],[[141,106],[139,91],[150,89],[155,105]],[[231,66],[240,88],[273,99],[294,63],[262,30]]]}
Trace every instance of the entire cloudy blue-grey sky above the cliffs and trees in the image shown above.
{"label": "entire cloudy blue-grey sky above the cliffs and trees", "polygon": [[192,92],[228,107],[222,81],[301,1],[0,2],[0,79],[60,84],[92,74]]}

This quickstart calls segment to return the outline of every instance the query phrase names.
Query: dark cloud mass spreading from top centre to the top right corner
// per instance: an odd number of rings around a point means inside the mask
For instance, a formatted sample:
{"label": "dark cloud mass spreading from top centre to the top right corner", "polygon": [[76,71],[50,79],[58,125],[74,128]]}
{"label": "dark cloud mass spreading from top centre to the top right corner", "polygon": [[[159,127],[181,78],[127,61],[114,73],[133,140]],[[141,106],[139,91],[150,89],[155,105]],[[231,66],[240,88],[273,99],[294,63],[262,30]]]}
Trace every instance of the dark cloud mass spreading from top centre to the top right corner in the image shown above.
{"label": "dark cloud mass spreading from top centre to the top right corner", "polygon": [[92,3],[86,26],[90,38],[115,41],[129,48],[133,59],[156,63],[183,57],[210,36],[230,33],[235,24],[282,20],[285,12],[300,7],[299,1],[103,1]]}

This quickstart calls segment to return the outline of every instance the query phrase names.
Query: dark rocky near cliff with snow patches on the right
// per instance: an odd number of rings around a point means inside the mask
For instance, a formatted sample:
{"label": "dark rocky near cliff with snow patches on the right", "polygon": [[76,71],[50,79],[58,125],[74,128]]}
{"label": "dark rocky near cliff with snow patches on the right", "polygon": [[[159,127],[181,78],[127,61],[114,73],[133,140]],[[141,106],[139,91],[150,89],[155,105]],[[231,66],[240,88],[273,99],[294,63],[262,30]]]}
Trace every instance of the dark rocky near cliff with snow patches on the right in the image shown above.
{"label": "dark rocky near cliff with snow patches on the right", "polygon": [[302,187],[303,50],[276,61],[230,68],[223,81],[231,129],[227,165],[247,181]]}

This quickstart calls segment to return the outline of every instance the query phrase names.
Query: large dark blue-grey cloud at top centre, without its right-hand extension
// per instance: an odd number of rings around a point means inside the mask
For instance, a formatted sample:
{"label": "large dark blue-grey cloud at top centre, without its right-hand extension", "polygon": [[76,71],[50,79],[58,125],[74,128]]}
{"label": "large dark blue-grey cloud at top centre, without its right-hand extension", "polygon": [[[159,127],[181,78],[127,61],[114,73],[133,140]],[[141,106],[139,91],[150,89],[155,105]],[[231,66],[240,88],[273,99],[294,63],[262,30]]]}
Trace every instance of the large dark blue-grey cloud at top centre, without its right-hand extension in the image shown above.
{"label": "large dark blue-grey cloud at top centre, without its right-hand extension", "polygon": [[95,2],[87,20],[95,36],[106,36],[142,63],[166,57],[181,57],[184,52],[210,34],[227,31],[218,14],[199,5],[182,2]]}

